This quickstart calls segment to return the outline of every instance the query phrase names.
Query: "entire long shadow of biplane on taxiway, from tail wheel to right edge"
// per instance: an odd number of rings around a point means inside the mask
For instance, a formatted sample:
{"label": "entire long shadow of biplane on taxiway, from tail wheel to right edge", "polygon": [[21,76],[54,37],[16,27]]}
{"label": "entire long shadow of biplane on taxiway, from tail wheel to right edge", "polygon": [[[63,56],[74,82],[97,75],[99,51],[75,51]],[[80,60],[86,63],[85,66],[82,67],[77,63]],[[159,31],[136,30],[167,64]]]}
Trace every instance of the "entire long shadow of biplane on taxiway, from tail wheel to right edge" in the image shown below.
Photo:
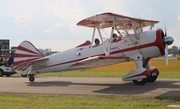
{"label": "entire long shadow of biplane on taxiway, from tail wheel to right edge", "polygon": [[[134,83],[122,83],[122,84],[103,84],[103,83],[73,83],[71,81],[51,81],[51,82],[27,82],[27,86],[32,87],[48,87],[48,86],[69,86],[69,85],[80,85],[80,86],[107,86],[100,90],[93,90],[94,93],[99,94],[115,94],[115,95],[130,95],[130,94],[144,94],[159,88],[166,90],[165,88],[176,88],[176,93],[169,91],[164,93],[163,96],[171,95],[177,96],[180,93],[180,85],[175,83],[180,81],[156,81],[154,83],[146,83],[145,85],[134,85]],[[163,89],[164,88],[164,89]]]}

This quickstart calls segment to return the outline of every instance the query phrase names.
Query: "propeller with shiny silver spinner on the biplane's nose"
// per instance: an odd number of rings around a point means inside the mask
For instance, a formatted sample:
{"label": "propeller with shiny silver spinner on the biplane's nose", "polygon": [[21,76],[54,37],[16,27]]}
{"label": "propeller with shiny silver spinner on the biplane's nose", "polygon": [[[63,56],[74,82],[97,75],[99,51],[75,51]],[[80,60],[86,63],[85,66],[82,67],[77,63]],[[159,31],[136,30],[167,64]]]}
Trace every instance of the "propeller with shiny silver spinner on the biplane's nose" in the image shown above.
{"label": "propeller with shiny silver spinner on the biplane's nose", "polygon": [[166,22],[165,22],[165,33],[164,33],[164,44],[165,44],[165,58],[166,58],[166,65],[168,65],[168,45],[171,45],[174,42],[174,39],[171,36],[167,36],[166,30]]}

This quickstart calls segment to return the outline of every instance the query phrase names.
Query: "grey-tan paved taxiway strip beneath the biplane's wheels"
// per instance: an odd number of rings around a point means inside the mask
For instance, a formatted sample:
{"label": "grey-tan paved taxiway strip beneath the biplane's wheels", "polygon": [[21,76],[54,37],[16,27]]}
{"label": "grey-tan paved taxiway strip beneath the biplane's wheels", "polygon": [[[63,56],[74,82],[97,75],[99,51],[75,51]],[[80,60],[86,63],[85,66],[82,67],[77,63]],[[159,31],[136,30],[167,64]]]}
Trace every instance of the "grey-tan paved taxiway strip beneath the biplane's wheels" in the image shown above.
{"label": "grey-tan paved taxiway strip beneath the biplane's wheels", "polygon": [[1,77],[0,92],[91,94],[91,95],[179,95],[180,79],[157,79],[154,83],[138,86],[121,78],[86,77]]}

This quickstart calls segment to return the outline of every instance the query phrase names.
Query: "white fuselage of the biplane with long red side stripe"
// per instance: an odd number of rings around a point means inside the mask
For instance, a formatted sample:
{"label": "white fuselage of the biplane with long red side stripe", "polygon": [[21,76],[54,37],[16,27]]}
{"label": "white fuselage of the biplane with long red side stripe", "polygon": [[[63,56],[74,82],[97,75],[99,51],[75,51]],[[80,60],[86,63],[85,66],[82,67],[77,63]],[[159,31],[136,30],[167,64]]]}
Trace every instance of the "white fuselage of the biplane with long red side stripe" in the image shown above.
{"label": "white fuselage of the biplane with long red side stripe", "polygon": [[[139,39],[137,39],[135,36],[130,35],[128,37],[131,37],[134,42],[130,40],[130,38],[127,37],[126,42],[121,40],[118,42],[113,42],[111,44],[110,48],[110,56],[122,56],[122,57],[133,57],[135,54],[142,54],[144,58],[148,57],[157,57],[164,55],[163,52],[163,44],[161,42],[158,42],[157,39],[162,39],[163,37],[156,36],[156,33],[160,32],[161,30],[152,30],[148,32],[140,34]],[[151,37],[149,37],[149,35]],[[108,49],[109,40],[104,41],[104,45],[106,50]],[[119,61],[116,60],[110,60],[109,63],[104,62],[96,62],[88,65],[81,65],[81,66],[73,66],[79,61],[82,61],[84,59],[88,59],[89,57],[95,57],[95,56],[105,56],[102,44],[99,46],[92,47],[91,51],[91,43],[89,41],[86,41],[84,44],[77,46],[76,48],[63,51],[60,53],[56,53],[54,55],[50,55],[44,58],[49,58],[46,60],[46,62],[38,62],[33,65],[34,69],[32,71],[38,72],[38,73],[44,73],[44,72],[52,72],[52,71],[67,71],[67,70],[75,70],[75,69],[85,69],[85,68],[92,68],[92,67],[100,67],[105,65],[111,65],[117,64]],[[126,59],[126,61],[134,60],[133,58]],[[107,60],[105,60],[106,62]],[[123,60],[124,61],[124,60]]]}

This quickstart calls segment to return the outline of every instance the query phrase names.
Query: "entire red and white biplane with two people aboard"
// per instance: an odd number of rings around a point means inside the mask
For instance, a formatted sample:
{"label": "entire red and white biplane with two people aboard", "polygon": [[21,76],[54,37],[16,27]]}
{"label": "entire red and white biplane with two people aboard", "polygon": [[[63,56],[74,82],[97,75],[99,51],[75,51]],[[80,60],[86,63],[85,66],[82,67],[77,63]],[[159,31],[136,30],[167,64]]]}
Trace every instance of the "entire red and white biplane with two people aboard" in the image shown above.
{"label": "entire red and white biplane with two people aboard", "polygon": [[[107,66],[127,61],[135,61],[136,70],[131,71],[122,79],[143,85],[147,81],[154,82],[159,75],[155,67],[150,67],[151,58],[166,56],[167,46],[174,39],[166,35],[162,29],[152,30],[159,21],[145,20],[122,16],[114,13],[102,13],[77,23],[93,29],[92,40],[76,46],[73,49],[43,56],[29,41],[23,41],[14,55],[14,69],[17,73],[28,75],[29,81],[34,81],[34,75],[45,72],[60,72],[68,70],[83,70]],[[144,31],[144,27],[149,27]],[[103,40],[101,31],[111,28],[109,38]],[[98,33],[100,44],[93,46],[95,33]],[[113,42],[113,33],[121,40]]]}

